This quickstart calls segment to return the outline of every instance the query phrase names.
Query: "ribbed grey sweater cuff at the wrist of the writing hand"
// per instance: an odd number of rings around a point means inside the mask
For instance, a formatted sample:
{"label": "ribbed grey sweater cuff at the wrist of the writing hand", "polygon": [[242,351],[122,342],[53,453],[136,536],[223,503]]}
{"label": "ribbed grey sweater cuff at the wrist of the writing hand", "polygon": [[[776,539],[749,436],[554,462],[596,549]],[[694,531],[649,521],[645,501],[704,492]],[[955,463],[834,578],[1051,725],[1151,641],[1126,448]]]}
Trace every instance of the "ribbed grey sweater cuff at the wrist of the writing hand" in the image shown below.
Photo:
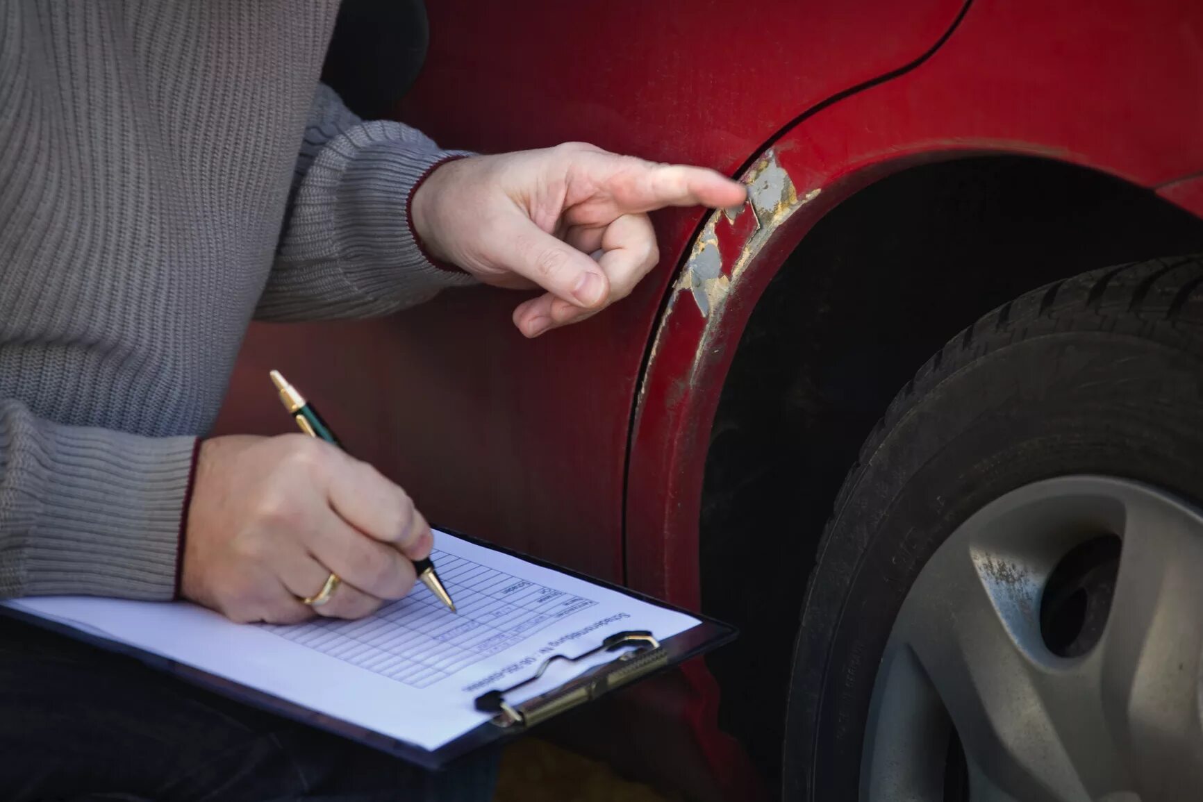
{"label": "ribbed grey sweater cuff at the wrist of the writing hand", "polygon": [[36,491],[11,498],[7,516],[26,534],[23,594],[174,598],[196,439],[38,428],[7,469],[32,474],[18,481]]}

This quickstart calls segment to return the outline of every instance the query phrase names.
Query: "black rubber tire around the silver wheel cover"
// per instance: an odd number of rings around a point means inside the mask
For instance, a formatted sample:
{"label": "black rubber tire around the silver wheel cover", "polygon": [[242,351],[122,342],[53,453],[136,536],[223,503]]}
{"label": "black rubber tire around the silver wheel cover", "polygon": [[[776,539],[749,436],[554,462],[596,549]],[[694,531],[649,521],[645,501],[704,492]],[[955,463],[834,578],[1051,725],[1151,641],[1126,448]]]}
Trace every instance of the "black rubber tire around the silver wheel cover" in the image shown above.
{"label": "black rubber tire around the silver wheel cover", "polygon": [[895,618],[974,512],[1067,475],[1203,499],[1201,284],[1201,257],[1050,284],[962,331],[895,397],[840,491],[806,592],[786,800],[860,798],[866,720]]}

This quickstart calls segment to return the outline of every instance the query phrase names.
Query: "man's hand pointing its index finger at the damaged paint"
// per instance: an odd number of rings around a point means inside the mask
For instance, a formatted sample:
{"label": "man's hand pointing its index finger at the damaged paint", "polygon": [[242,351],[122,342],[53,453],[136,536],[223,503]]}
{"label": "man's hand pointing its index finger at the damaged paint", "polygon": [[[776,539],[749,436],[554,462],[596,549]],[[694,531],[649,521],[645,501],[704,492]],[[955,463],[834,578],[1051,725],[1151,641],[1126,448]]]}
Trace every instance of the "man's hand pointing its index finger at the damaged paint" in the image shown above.
{"label": "man's hand pointing its index finger at the damaged paint", "polygon": [[538,337],[627,297],[659,260],[647,212],[729,208],[742,184],[700,167],[657,165],[570,143],[442,165],[414,194],[431,254],[502,287],[546,295],[514,310]]}

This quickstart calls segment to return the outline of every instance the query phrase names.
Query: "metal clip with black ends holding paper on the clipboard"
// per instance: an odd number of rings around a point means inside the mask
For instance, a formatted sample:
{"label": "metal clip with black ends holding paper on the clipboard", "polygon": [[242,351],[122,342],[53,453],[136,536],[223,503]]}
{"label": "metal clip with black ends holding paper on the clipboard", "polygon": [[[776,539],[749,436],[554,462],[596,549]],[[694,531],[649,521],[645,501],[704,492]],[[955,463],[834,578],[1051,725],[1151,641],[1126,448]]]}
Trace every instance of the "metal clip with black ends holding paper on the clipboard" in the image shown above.
{"label": "metal clip with black ends holding paper on the clipboard", "polygon": [[[620,655],[612,663],[597,666],[592,671],[571,679],[559,688],[549,690],[545,694],[528,699],[517,706],[511,706],[505,701],[505,695],[529,685],[547,670],[552,663],[562,660],[564,663],[576,663],[592,657],[598,652],[616,652],[621,648],[634,646],[633,652]],[[633,679],[638,679],[668,664],[669,653],[660,646],[659,641],[652,637],[648,631],[616,632],[602,642],[595,649],[589,649],[575,658],[553,654],[535,671],[533,677],[523,679],[509,688],[490,690],[476,697],[476,709],[482,713],[496,713],[492,723],[497,726],[509,727],[520,725],[522,727],[534,726],[540,721],[569,711],[577,705],[597,699],[602,694],[614,690]]]}

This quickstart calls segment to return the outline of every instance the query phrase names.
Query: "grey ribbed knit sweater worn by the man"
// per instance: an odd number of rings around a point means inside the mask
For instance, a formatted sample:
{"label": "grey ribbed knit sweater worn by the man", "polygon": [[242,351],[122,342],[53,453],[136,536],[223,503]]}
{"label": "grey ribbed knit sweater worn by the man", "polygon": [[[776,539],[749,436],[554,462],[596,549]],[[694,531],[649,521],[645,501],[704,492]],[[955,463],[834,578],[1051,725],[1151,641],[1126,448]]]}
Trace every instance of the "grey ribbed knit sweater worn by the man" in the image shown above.
{"label": "grey ribbed knit sweater worn by the man", "polygon": [[171,598],[251,317],[470,281],[407,221],[449,154],[318,83],[337,5],[0,0],[0,595]]}

